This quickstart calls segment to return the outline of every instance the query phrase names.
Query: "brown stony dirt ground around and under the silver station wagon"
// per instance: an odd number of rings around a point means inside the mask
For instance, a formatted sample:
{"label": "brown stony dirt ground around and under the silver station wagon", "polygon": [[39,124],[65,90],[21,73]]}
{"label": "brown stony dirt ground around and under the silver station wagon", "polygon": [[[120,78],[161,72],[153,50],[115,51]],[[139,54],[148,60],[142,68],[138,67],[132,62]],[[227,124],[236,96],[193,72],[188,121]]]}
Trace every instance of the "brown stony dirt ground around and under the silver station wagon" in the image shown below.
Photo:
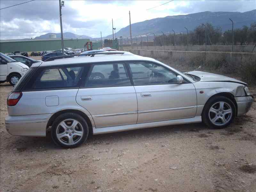
{"label": "brown stony dirt ground around and under the silver station wagon", "polygon": [[[1,192],[255,192],[256,102],[223,130],[204,124],[95,135],[64,149],[46,138],[10,135],[0,85]],[[256,87],[251,88],[256,97]],[[255,170],[254,170],[255,169]]]}

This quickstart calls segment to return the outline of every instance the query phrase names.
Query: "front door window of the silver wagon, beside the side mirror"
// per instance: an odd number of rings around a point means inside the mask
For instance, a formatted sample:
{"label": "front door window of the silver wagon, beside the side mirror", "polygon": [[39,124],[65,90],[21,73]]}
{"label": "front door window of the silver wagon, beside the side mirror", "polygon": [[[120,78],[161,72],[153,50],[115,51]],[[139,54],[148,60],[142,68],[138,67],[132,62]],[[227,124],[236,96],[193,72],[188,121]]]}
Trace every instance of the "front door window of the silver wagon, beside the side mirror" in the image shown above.
{"label": "front door window of the silver wagon, beside the side mirror", "polygon": [[177,83],[177,75],[155,63],[130,62],[129,68],[134,85]]}

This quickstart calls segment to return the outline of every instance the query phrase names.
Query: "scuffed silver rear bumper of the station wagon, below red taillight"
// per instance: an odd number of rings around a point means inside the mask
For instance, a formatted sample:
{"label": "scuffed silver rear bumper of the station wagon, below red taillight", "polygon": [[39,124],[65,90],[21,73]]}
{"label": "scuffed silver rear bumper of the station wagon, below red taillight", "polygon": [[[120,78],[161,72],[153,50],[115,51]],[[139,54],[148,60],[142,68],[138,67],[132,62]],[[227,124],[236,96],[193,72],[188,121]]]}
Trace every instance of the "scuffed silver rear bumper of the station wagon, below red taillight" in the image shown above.
{"label": "scuffed silver rear bumper of the station wagon, below red taillight", "polygon": [[11,135],[45,137],[52,114],[7,116],[5,128]]}

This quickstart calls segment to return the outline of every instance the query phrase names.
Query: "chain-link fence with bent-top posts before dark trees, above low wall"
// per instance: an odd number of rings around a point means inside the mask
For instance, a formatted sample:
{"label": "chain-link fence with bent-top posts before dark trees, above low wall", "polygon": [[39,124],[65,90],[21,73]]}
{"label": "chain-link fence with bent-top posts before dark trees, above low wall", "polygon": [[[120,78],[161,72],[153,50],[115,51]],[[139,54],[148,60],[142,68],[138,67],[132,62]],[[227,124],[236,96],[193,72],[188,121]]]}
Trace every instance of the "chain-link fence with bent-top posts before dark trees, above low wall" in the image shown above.
{"label": "chain-link fence with bent-top posts before dark trees, above low wall", "polygon": [[[236,24],[236,23],[234,23]],[[197,26],[194,30],[149,33],[139,36],[120,37],[121,49],[173,50],[173,51],[220,51],[255,52],[256,22],[250,27],[244,26],[222,31],[220,26],[209,23]]]}

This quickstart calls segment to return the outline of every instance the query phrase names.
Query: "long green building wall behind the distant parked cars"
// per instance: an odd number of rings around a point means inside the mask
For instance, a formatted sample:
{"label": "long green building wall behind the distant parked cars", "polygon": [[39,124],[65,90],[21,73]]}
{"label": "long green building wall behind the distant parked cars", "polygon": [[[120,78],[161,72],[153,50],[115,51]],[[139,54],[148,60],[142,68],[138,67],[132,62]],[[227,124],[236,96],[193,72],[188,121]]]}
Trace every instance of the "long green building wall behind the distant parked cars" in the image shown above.
{"label": "long green building wall behind the distant parked cars", "polygon": [[[83,49],[84,44],[89,39],[64,39],[64,47],[73,49]],[[93,49],[98,49],[93,46]],[[42,41],[20,41],[20,42],[1,42],[0,52],[10,53],[14,51],[31,52],[31,51],[53,51],[61,49],[60,40],[42,40]]]}

